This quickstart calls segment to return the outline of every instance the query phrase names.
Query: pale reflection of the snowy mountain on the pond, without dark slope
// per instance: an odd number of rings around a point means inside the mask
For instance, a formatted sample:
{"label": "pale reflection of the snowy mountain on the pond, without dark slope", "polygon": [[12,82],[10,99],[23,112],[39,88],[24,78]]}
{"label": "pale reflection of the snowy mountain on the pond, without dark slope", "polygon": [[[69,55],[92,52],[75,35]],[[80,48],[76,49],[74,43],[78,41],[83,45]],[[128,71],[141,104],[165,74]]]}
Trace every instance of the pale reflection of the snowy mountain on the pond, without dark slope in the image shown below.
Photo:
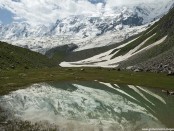
{"label": "pale reflection of the snowy mountain on the pond, without dark slope", "polygon": [[[66,131],[130,131],[162,127],[155,116],[130,97],[79,84],[70,87],[76,90],[34,84],[31,88],[3,96],[0,105],[22,120],[49,121]],[[119,92],[124,91],[119,88]]]}

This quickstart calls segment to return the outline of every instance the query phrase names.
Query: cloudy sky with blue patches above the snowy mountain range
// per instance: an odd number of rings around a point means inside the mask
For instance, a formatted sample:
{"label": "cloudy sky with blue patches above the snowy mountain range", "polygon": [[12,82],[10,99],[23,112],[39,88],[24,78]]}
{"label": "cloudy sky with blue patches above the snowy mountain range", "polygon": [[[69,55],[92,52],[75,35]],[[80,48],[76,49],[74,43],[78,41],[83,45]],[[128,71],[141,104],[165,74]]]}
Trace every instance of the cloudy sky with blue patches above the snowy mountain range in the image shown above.
{"label": "cloudy sky with blue patches above the snowy mountain range", "polygon": [[[131,1],[131,2],[130,2]],[[146,3],[169,0],[146,0]],[[101,9],[134,5],[144,0],[0,0],[0,23],[26,21],[31,25],[55,23],[69,15],[91,15]]]}

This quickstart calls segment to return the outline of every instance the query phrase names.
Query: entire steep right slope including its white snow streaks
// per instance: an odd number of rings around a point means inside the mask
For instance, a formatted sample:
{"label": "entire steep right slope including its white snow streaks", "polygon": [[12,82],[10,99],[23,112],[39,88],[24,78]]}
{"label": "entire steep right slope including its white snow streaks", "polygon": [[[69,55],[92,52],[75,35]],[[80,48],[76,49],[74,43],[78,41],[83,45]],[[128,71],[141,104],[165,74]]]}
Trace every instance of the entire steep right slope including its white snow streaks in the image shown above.
{"label": "entire steep right slope including its white snow streaks", "polygon": [[[168,71],[174,68],[174,8],[138,37],[119,47],[61,66],[102,66]],[[133,66],[133,67],[130,67]]]}

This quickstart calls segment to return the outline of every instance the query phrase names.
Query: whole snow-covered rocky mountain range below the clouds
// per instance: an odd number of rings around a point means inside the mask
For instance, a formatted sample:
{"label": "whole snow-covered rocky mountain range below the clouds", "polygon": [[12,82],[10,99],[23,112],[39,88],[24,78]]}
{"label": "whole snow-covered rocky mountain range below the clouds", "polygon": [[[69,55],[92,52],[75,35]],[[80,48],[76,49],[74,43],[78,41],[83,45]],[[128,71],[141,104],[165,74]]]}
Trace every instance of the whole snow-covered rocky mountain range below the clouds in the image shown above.
{"label": "whole snow-covered rocky mountain range below the clouds", "polygon": [[[94,4],[104,0],[91,1]],[[137,4],[101,8],[99,12],[58,19],[54,24],[31,26],[28,23],[0,25],[0,40],[42,52],[59,45],[74,43],[78,50],[120,42],[147,28],[173,6]]]}

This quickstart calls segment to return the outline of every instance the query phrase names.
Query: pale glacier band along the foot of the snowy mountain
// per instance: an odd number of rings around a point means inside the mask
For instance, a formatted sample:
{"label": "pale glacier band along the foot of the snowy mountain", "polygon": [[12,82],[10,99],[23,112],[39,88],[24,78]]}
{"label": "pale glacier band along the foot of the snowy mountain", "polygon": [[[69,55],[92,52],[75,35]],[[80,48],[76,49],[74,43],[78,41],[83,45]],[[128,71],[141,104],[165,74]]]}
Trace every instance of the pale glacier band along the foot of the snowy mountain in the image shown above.
{"label": "pale glacier band along the foot of the snowy mountain", "polygon": [[48,37],[29,37],[22,38],[18,40],[2,40],[12,45],[17,45],[20,47],[29,48],[33,51],[40,52],[44,54],[47,50],[68,44],[75,44],[78,48],[75,51],[101,47],[106,45],[111,45],[114,43],[119,43],[133,35],[136,35],[148,28],[149,24],[143,26],[136,27],[125,27],[125,29],[110,31],[101,36],[89,36],[86,38],[82,38],[77,34],[74,35],[56,35],[56,36],[48,36]]}

